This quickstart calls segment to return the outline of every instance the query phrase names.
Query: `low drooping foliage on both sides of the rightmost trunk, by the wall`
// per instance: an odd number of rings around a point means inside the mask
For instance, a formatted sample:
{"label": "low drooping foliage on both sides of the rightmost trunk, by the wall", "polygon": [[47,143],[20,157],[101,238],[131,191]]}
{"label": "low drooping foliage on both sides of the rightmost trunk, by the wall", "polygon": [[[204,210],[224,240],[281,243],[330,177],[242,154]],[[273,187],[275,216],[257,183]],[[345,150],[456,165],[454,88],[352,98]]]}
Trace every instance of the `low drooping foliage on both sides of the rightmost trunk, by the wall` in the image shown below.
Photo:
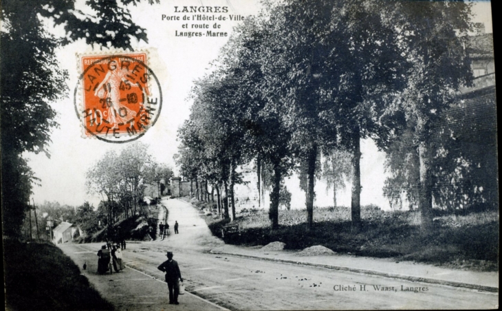
{"label": "low drooping foliage on both sides of the rightmost trunk, by the wall", "polygon": [[[431,161],[432,195],[436,208],[466,211],[496,208],[496,104],[488,99],[492,89],[460,96],[444,111],[431,131],[430,144],[437,150]],[[480,100],[481,99],[481,100]],[[480,122],[480,120],[483,120]],[[410,208],[419,205],[419,154],[414,132],[406,129],[386,154],[391,173],[384,195],[402,206],[402,195]]]}

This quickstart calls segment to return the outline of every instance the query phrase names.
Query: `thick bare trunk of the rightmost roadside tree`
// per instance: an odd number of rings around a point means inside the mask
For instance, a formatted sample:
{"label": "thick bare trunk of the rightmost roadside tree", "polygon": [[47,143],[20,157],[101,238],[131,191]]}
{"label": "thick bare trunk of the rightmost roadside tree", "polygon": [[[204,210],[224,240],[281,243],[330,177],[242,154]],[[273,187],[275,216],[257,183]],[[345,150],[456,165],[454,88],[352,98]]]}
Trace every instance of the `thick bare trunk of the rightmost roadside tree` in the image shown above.
{"label": "thick bare trunk of the rightmost roadside tree", "polygon": [[418,147],[420,158],[420,181],[419,181],[419,210],[422,224],[420,229],[423,235],[430,233],[433,228],[433,193],[432,178],[430,171],[430,147],[427,142],[420,142]]}

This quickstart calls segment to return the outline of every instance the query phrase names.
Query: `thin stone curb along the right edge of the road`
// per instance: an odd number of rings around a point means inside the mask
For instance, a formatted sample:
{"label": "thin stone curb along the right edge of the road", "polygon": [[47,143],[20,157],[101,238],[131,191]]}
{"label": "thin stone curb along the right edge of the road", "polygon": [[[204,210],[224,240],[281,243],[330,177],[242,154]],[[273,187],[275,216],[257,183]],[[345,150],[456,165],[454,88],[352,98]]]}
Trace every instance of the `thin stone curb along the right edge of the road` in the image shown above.
{"label": "thin stone curb along the right edge of the road", "polygon": [[463,283],[463,282],[457,282],[457,281],[447,281],[447,280],[441,280],[441,279],[430,279],[430,278],[427,278],[427,277],[412,277],[412,276],[409,276],[409,275],[398,275],[398,274],[395,274],[395,273],[380,272],[380,271],[366,270],[366,269],[360,269],[360,268],[351,268],[351,267],[344,267],[344,266],[332,266],[332,265],[325,265],[325,264],[313,264],[313,263],[310,263],[310,262],[295,261],[295,260],[289,260],[289,259],[277,259],[277,258],[268,258],[268,257],[260,257],[260,256],[253,256],[253,255],[242,255],[242,254],[236,254],[236,253],[226,253],[226,252],[220,252],[218,250],[210,250],[210,253],[217,254],[217,255],[228,255],[228,256],[234,256],[234,257],[243,257],[243,258],[249,258],[249,259],[259,259],[259,260],[266,260],[266,261],[284,262],[286,264],[296,264],[296,265],[300,265],[300,266],[313,266],[313,267],[319,267],[319,268],[326,268],[326,269],[330,269],[330,270],[357,272],[357,273],[362,273],[364,275],[377,275],[377,276],[380,276],[380,277],[390,277],[390,278],[393,278],[393,279],[404,279],[406,281],[415,281],[415,282],[423,282],[423,283],[433,283],[433,284],[438,284],[438,285],[453,286],[453,287],[459,287],[459,288],[469,288],[471,290],[482,290],[484,292],[499,292],[499,288],[497,288],[497,287],[484,286],[484,285],[471,284],[471,283]]}

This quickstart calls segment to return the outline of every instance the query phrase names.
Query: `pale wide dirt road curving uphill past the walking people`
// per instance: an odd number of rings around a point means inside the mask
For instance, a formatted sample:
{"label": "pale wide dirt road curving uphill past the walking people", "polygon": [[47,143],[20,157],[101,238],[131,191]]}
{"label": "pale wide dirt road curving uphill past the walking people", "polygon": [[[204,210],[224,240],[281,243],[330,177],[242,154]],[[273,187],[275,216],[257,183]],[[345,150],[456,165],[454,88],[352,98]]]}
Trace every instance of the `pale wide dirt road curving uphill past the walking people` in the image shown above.
{"label": "pale wide dirt road curving uphill past the walking people", "polygon": [[[123,255],[129,268],[125,272],[96,275],[100,244],[62,246],[78,266],[87,261],[83,274],[117,310],[215,310],[215,305],[230,310],[473,309],[498,305],[498,294],[493,293],[214,255],[208,250],[221,241],[208,233],[197,211],[178,200],[163,203],[169,210],[171,228],[178,220],[179,235],[127,244]],[[166,284],[157,270],[166,260],[166,250],[174,252],[188,292],[211,303],[186,294],[179,299],[181,305],[167,305]],[[121,288],[122,296],[114,294],[116,288]],[[194,301],[197,304],[190,305]]]}

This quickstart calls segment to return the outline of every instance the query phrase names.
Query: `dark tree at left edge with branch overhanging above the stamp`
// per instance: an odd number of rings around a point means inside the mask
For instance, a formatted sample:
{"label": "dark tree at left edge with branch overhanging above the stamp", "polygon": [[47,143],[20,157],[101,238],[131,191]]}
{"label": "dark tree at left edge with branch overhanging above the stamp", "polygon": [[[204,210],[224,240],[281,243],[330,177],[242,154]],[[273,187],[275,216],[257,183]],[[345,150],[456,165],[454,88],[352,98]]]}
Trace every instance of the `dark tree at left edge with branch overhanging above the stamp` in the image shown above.
{"label": "dark tree at left edge with branch overhanging above the stamp", "polygon": [[[54,50],[78,39],[124,49],[131,49],[131,38],[146,41],[145,30],[133,23],[124,6],[130,3],[138,0],[89,1],[92,13],[84,13],[75,9],[75,1],[2,1],[0,137],[5,235],[20,236],[31,183],[36,182],[21,154],[49,156],[50,133],[57,127],[50,103],[67,95],[67,72],[58,67]],[[64,25],[67,36],[56,39],[45,30],[43,19]]]}

